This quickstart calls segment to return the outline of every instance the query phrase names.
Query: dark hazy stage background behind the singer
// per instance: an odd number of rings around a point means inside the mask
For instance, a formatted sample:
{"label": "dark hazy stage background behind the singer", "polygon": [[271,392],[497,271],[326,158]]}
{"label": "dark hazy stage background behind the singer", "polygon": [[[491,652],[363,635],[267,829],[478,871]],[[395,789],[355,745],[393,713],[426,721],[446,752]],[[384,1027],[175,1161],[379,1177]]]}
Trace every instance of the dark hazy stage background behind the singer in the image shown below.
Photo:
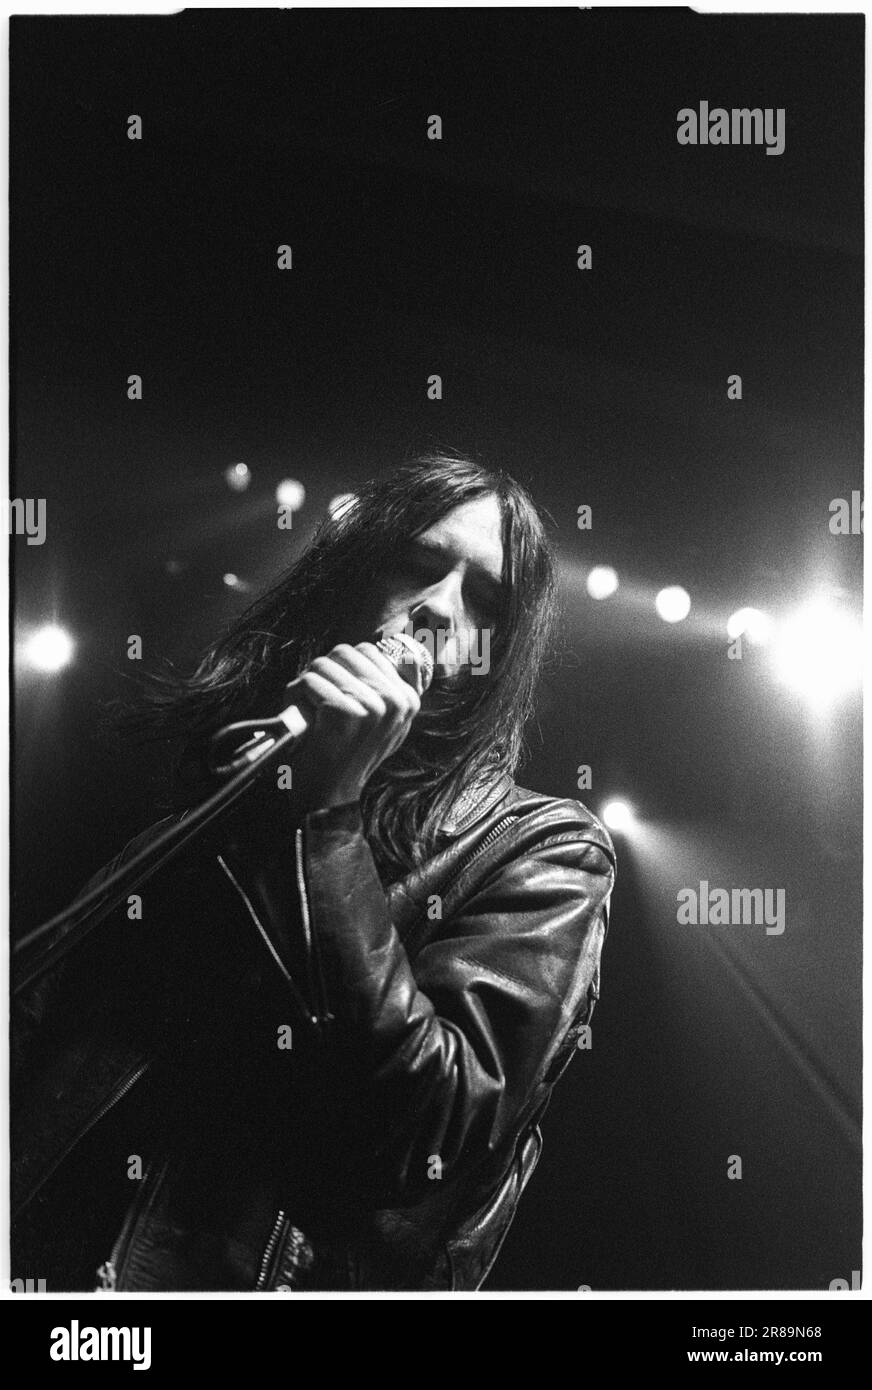
{"label": "dark hazy stage background behind the singer", "polygon": [[[14,620],[78,644],[17,681],[17,930],[154,819],[154,753],[100,731],[128,635],[191,660],[250,598],[225,571],[255,592],[331,496],[417,446],[505,466],[554,520],[562,655],[522,781],[595,812],[627,796],[641,828],[617,840],[594,1047],[490,1289],[823,1289],[859,1268],[859,701],[812,719],[762,651],[727,660],[723,624],[819,584],[859,606],[861,537],[827,509],[862,485],[862,26],[11,21],[10,495],[47,502],[45,546],[13,541]],[[784,107],[784,154],[679,146],[700,100]],[[291,534],[284,477],[307,489]],[[608,603],[591,563],[624,581]],[[672,582],[694,599],[676,627],[651,606]],[[786,933],[679,927],[700,878],[784,887]]]}

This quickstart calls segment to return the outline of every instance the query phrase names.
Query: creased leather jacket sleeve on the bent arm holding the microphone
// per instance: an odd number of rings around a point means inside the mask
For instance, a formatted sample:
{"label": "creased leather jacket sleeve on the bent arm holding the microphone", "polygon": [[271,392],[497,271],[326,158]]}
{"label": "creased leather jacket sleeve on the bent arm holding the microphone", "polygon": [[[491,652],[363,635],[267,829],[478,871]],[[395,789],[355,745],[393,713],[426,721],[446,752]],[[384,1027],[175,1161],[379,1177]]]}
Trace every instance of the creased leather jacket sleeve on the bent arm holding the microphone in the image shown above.
{"label": "creased leather jacket sleeve on the bent arm holding the microphone", "polygon": [[[595,990],[613,863],[554,835],[503,865],[409,956],[356,806],[306,817],[313,942],[342,1055],[394,1197],[513,1141]],[[584,1015],[587,1017],[587,1013]],[[430,1188],[431,1190],[431,1188]]]}

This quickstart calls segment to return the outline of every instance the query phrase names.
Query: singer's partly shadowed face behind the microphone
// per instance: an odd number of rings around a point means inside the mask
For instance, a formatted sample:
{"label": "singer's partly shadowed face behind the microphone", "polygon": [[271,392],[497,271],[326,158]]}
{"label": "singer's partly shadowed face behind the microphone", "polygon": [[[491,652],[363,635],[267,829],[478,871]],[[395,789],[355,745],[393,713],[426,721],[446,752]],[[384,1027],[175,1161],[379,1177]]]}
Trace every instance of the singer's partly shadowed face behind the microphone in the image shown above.
{"label": "singer's partly shadowed face behind the microphone", "polygon": [[370,632],[424,641],[437,676],[480,662],[501,609],[502,562],[499,502],[463,502],[387,557]]}

